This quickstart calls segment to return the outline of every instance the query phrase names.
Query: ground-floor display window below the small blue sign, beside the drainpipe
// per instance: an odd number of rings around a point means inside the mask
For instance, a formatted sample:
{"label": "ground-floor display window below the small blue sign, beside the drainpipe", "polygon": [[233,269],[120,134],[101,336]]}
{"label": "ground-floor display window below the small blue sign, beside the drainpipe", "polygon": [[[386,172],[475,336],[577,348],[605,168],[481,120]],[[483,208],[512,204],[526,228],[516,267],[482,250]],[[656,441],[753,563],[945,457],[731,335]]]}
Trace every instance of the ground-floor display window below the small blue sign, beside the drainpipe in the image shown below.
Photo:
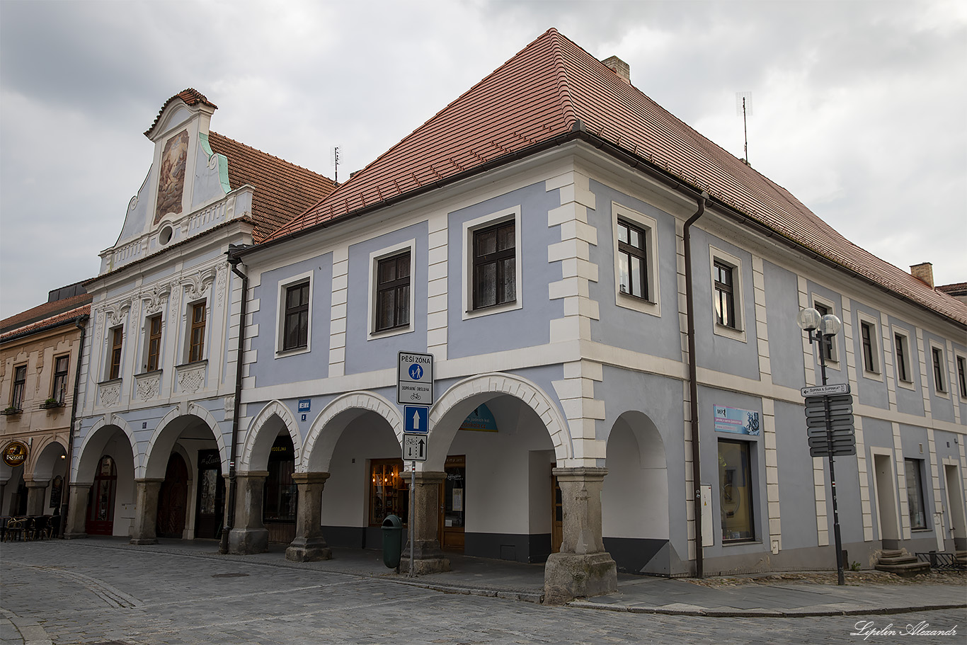
{"label": "ground-floor display window below the small blue sign, beside the drainpipe", "polygon": [[718,492],[722,542],[754,540],[748,442],[718,440]]}

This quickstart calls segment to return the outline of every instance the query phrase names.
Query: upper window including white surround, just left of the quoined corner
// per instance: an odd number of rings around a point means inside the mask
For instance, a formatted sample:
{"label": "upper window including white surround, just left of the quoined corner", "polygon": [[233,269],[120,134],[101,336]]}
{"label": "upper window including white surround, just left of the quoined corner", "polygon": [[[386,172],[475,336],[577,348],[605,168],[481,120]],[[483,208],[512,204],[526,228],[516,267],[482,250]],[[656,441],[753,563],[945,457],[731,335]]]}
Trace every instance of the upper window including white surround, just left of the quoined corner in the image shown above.
{"label": "upper window including white surround, just left of the quoined corner", "polygon": [[463,223],[463,318],[519,309],[520,207]]}

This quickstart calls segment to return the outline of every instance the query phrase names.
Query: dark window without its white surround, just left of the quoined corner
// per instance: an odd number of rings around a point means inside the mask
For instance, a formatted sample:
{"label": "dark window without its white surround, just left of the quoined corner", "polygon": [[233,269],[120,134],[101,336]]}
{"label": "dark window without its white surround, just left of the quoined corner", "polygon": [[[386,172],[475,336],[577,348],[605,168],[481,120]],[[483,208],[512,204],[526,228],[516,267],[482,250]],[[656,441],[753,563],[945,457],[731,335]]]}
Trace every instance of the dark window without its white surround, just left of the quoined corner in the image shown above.
{"label": "dark window without its white surround, just left of the quoined corner", "polygon": [[494,307],[517,299],[515,222],[474,231],[474,308]]}

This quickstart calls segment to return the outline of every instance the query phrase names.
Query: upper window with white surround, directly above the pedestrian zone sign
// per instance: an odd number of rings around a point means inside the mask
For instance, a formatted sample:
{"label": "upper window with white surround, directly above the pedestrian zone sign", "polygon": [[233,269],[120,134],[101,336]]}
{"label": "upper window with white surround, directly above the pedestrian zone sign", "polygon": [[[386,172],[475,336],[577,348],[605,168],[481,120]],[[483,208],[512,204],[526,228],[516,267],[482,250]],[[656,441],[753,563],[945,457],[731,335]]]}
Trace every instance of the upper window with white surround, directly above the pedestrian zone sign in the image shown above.
{"label": "upper window with white surround, directly above the pedestrian zone sign", "polygon": [[409,240],[369,254],[369,337],[413,331],[415,245]]}

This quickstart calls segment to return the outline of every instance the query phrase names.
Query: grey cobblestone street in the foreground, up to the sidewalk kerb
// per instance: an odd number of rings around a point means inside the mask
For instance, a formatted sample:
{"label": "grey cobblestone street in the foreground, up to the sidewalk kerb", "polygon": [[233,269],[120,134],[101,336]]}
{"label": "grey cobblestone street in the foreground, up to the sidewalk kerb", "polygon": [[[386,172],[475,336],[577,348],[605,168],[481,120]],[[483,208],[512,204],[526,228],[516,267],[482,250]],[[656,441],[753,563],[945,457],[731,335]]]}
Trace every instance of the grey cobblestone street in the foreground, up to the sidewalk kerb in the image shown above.
{"label": "grey cobblestone street in the foreground, up to the sidewalk kerb", "polygon": [[[962,642],[967,610],[804,618],[615,612],[87,541],[3,544],[0,643]],[[958,635],[902,635],[907,625]],[[921,629],[923,631],[923,628]],[[48,639],[48,640],[47,640]]]}

